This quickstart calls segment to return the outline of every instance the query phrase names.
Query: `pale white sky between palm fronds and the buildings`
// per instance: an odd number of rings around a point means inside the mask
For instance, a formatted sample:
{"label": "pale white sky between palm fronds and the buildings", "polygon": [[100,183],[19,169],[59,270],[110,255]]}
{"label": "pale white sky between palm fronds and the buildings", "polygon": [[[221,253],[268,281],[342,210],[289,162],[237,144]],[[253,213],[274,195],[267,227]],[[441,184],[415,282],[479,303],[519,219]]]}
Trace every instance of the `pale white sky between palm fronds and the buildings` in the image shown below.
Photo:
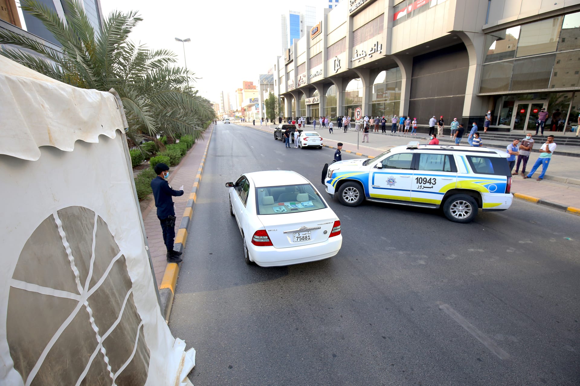
{"label": "pale white sky between palm fronds and the buildings", "polygon": [[281,14],[304,6],[323,6],[324,0],[101,0],[103,16],[112,10],[139,11],[132,41],[150,49],[170,49],[195,72],[199,93],[219,102],[220,91],[234,91],[242,81],[258,83],[282,56]]}

